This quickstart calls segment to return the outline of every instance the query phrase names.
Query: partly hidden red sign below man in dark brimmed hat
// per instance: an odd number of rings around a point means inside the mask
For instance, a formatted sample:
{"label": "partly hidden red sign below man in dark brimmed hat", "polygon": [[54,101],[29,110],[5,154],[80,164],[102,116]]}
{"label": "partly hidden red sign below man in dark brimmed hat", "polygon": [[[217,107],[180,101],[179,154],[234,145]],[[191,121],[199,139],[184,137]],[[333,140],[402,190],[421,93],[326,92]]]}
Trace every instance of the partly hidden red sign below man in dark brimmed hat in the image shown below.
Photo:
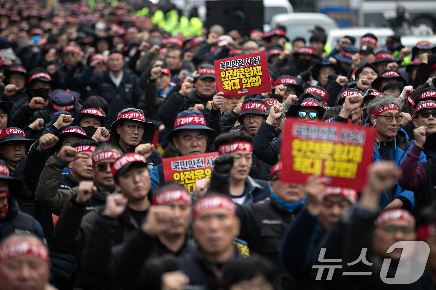
{"label": "partly hidden red sign below man in dark brimmed hat", "polygon": [[212,169],[218,152],[162,159],[165,182],[178,182],[188,192],[195,190],[198,179],[211,180]]}

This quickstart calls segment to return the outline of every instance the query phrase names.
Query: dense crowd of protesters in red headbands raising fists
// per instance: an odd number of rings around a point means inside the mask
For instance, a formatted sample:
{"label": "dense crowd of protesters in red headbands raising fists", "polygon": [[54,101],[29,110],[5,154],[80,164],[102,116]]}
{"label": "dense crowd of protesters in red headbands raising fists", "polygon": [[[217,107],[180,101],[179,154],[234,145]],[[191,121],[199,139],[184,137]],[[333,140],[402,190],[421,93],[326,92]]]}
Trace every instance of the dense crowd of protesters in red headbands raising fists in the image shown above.
{"label": "dense crowd of protesters in red headbands raising fists", "polygon": [[[0,290],[436,289],[433,44],[49,2],[0,1]],[[215,60],[259,52],[272,92],[217,93]],[[362,192],[282,181],[285,118],[372,128]],[[208,152],[193,192],[165,182]],[[413,283],[383,280],[398,241],[429,246]]]}

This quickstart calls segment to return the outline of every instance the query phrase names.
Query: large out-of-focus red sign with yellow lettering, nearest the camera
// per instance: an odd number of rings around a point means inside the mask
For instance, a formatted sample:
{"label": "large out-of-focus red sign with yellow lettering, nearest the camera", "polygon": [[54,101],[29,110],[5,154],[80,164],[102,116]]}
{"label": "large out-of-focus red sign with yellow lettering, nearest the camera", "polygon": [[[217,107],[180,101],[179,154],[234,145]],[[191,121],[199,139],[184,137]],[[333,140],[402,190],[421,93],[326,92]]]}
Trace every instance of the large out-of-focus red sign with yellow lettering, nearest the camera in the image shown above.
{"label": "large out-of-focus red sign with yellow lettering, nearest the camera", "polygon": [[375,133],[371,128],[287,118],[282,141],[280,179],[304,183],[309,175],[331,177],[328,186],[361,191],[372,162]]}

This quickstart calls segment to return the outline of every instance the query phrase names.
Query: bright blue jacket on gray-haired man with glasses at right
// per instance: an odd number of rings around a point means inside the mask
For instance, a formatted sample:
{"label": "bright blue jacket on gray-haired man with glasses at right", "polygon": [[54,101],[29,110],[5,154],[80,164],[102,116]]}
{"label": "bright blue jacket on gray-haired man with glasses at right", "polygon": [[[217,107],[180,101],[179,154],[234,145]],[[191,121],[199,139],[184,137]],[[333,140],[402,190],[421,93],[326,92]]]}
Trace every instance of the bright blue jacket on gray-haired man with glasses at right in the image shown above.
{"label": "bright blue jacket on gray-haired man with glasses at right", "polygon": [[[415,143],[415,140],[409,140],[409,136],[406,134],[406,132],[402,128],[398,128],[397,135],[395,136],[395,142],[396,142],[395,164],[399,166],[401,162],[404,160],[406,153],[409,152],[409,150],[412,148],[413,144]],[[381,157],[378,152],[377,140],[374,142],[374,151],[372,157],[374,162],[381,161]],[[424,161],[427,161],[426,155],[424,155],[424,153],[421,152],[421,155],[419,156],[419,162],[424,162]],[[410,209],[413,209],[415,207],[415,198],[413,197],[413,192],[410,190],[403,190],[401,186],[397,184],[394,196],[392,196],[388,192],[383,193],[380,199],[380,208],[381,209],[385,208],[385,206],[387,206],[390,202],[392,202],[396,198],[401,199],[403,203],[409,201],[411,204]]]}

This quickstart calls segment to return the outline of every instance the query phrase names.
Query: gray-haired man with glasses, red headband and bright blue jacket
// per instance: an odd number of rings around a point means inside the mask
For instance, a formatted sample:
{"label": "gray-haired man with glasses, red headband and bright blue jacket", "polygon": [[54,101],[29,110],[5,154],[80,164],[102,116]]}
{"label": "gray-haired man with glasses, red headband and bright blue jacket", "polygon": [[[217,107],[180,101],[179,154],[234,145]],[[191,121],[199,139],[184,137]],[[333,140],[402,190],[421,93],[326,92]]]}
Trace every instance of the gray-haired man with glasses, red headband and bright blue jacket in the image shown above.
{"label": "gray-haired man with glasses, red headband and bright blue jacket", "polygon": [[[373,153],[375,162],[392,160],[399,166],[414,144],[414,140],[409,140],[406,132],[399,128],[403,119],[400,110],[401,103],[395,96],[375,98],[368,105],[369,121],[376,129]],[[426,155],[421,152],[419,162],[424,161]],[[413,192],[395,185],[381,196],[380,207],[386,206],[412,210],[415,207]]]}

